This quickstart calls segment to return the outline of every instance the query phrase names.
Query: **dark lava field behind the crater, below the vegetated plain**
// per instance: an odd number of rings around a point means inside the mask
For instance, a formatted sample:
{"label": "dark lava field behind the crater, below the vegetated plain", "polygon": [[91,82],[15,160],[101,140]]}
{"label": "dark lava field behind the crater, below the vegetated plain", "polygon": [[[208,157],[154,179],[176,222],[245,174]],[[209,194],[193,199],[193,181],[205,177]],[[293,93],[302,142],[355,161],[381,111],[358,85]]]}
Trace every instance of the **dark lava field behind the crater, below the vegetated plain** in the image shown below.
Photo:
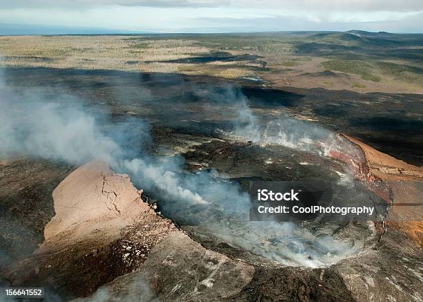
{"label": "dark lava field behind the crater, below the vegetated plain", "polygon": [[57,95],[71,95],[95,108],[92,110],[111,113],[117,120],[133,115],[148,119],[153,126],[207,135],[229,128],[233,104],[245,95],[247,105],[256,114],[313,120],[397,159],[423,164],[421,95],[323,88],[277,90],[253,81],[115,70],[8,68],[3,73],[8,85],[31,93],[41,91],[50,101],[58,102]]}

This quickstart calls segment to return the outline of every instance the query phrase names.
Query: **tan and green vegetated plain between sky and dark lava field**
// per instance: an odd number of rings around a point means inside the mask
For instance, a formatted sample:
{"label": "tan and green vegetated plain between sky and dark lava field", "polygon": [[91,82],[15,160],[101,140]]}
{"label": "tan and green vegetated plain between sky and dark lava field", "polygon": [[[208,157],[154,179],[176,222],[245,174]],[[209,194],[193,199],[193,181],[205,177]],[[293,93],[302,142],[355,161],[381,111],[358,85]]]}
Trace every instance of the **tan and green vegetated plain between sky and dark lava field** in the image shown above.
{"label": "tan and green vegetated plain between sky and dark lava field", "polygon": [[[365,83],[370,91],[383,91],[386,88],[387,91],[421,93],[423,87],[422,34],[353,30],[136,36],[2,36],[0,54],[4,66],[113,69],[229,78],[256,75],[275,83],[279,82],[279,76],[290,77],[295,73],[293,85],[300,83],[301,86],[332,87],[330,81],[335,83],[332,77],[339,75],[327,72],[324,73],[327,77],[314,80],[314,77],[321,75],[323,66],[326,70],[357,75],[369,81]],[[255,62],[251,59],[236,62],[183,61],[194,57],[245,54],[261,57]],[[377,85],[375,88],[370,83],[381,82],[382,78],[386,86]],[[336,83],[337,88],[348,89],[352,85],[352,82]]]}

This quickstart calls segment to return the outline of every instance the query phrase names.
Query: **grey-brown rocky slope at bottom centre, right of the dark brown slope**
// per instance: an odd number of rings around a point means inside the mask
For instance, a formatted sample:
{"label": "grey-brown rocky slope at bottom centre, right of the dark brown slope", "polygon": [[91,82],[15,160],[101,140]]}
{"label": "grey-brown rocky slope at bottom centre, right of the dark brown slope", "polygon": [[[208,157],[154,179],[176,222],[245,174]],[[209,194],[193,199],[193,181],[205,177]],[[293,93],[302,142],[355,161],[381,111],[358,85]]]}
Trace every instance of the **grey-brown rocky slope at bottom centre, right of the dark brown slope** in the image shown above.
{"label": "grey-brown rocky slope at bottom centre, right of the dark brown slope", "polygon": [[241,292],[253,274],[252,265],[173,232],[153,247],[138,270],[77,301],[223,301]]}

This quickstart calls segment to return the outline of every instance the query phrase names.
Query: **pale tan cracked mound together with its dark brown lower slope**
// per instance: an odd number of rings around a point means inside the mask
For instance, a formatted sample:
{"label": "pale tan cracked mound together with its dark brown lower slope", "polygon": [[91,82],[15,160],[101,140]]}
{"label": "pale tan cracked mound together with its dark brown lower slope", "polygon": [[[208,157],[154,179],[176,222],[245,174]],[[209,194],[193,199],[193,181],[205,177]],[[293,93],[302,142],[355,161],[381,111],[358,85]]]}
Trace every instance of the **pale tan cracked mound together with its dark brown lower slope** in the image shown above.
{"label": "pale tan cracked mound together with its dark brown lower slope", "polygon": [[128,176],[103,162],[88,162],[69,174],[53,200],[56,214],[44,228],[44,243],[2,270],[3,285],[46,287],[48,299],[87,296],[131,272],[176,229],[142,201]]}

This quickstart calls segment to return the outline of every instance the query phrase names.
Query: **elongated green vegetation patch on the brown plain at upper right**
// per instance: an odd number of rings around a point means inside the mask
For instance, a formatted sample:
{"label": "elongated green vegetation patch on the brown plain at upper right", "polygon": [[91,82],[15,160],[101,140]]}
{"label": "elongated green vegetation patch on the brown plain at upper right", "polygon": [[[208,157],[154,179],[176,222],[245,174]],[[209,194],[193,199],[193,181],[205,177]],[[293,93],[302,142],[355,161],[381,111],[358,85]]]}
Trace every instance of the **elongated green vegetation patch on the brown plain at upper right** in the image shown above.
{"label": "elongated green vegetation patch on the brown plain at upper right", "polygon": [[360,75],[361,79],[368,81],[380,82],[381,78],[371,73],[372,66],[363,61],[357,60],[331,60],[322,62],[321,65],[327,70],[337,70],[342,73],[352,73],[354,75]]}

